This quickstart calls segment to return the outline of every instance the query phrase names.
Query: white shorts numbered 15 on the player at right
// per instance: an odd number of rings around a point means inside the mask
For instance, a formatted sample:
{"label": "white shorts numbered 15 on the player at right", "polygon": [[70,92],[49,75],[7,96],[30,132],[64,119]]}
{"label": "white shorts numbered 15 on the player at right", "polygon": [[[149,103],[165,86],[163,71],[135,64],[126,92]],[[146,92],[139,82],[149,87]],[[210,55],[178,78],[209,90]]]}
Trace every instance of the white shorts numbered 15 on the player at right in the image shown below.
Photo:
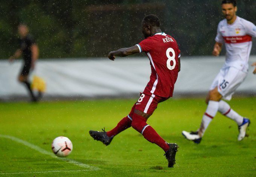
{"label": "white shorts numbered 15 on the player at right", "polygon": [[213,80],[210,90],[217,87],[218,92],[223,96],[223,99],[229,101],[246,76],[247,72],[241,71],[232,66],[221,68],[219,74]]}

